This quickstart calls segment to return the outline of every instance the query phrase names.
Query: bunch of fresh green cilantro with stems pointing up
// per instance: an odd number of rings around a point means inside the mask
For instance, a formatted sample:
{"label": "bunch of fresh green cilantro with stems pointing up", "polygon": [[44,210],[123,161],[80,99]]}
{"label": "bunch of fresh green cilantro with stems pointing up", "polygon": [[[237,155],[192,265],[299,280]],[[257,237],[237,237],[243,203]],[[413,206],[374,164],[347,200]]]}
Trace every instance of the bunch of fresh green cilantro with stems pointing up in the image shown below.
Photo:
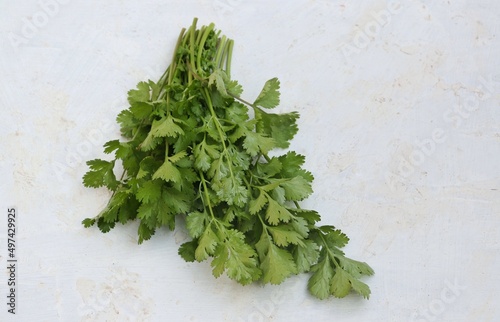
{"label": "bunch of fresh green cilantro with stems pointing up", "polygon": [[351,290],[369,298],[360,277],[373,270],[347,258],[340,250],[347,236],[317,225],[319,214],[298,203],[312,193],[304,156],[269,156],[289,147],[299,116],[269,112],[280,101],[278,79],[267,81],[253,103],[242,99],[230,76],[233,41],[213,24],[196,24],[181,31],[160,80],[128,92],[130,107],[117,117],[125,140],[104,145],[114,159],[87,162],[84,185],[104,186],[112,195],[83,224],[108,232],[117,222],[138,220],[142,243],[163,226],[173,230],[184,216],[192,240],[181,245],[180,256],[211,258],[215,277],[279,284],[312,272],[308,289],[320,299]]}

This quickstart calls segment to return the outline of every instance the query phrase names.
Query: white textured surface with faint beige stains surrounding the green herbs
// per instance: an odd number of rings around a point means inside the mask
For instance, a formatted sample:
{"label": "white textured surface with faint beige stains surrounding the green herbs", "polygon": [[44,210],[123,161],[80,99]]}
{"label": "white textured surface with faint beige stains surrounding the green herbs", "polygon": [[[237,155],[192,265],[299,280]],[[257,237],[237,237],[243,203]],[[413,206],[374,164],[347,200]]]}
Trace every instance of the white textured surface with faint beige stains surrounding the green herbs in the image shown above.
{"label": "white textured surface with faint beige stains surrounding the green herbs", "polygon": [[[500,321],[500,3],[352,2],[1,0],[0,265],[15,206],[19,287],[12,317],[2,269],[0,320]],[[183,229],[138,246],[134,224],[81,226],[108,198],[85,161],[194,16],[235,39],[245,97],[280,78],[307,206],[375,269],[369,301],[216,280],[177,255]]]}

